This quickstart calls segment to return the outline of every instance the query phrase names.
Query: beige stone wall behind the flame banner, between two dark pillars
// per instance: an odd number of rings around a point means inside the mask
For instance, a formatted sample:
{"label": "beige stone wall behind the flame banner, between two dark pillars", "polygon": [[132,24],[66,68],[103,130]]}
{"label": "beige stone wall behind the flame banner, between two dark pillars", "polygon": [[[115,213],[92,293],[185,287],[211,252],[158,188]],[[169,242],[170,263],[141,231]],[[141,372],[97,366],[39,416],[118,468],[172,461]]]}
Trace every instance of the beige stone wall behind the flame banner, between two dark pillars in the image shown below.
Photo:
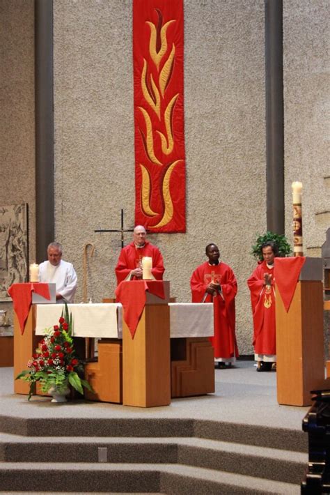
{"label": "beige stone wall behind the flame banner, between two dark pillars", "polygon": [[[185,1],[184,37],[187,233],[150,241],[179,302],[205,245],[219,245],[239,284],[239,348],[250,353],[249,251],[266,226],[263,1]],[[56,238],[77,268],[78,300],[84,245],[95,245],[96,302],[113,296],[120,235],[93,231],[120,227],[121,208],[134,226],[132,1],[54,2],[54,82]]]}

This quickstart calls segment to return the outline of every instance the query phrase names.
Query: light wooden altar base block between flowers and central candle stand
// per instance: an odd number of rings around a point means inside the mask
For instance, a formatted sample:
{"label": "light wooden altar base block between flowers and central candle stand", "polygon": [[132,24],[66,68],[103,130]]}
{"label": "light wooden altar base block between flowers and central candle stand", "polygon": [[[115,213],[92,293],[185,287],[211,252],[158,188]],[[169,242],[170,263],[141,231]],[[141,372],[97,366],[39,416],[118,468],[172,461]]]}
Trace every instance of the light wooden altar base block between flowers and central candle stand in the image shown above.
{"label": "light wooden altar base block between flowers and central candle stand", "polygon": [[93,394],[85,388],[86,399],[121,404],[123,402],[122,368],[122,341],[102,339],[98,343],[98,361],[85,365],[85,379],[95,390]]}

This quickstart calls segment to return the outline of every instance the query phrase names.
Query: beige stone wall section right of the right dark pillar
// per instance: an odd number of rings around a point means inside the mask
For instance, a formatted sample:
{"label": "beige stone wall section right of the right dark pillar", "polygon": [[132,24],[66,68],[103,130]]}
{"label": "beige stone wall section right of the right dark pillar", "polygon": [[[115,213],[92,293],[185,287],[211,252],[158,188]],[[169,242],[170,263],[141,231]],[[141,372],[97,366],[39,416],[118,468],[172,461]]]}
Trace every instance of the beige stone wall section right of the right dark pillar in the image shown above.
{"label": "beige stone wall section right of the right dark pillar", "polygon": [[329,14],[327,0],[283,1],[285,225],[290,233],[291,183],[301,181],[304,252],[312,257],[321,256],[330,226]]}

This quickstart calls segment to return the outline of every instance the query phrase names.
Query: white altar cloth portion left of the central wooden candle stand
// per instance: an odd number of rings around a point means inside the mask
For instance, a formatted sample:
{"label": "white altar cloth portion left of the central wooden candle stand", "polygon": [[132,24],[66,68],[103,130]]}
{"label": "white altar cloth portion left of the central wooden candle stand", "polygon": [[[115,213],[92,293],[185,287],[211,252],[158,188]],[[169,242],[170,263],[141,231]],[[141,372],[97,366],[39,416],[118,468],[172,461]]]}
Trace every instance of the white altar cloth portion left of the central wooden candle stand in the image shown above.
{"label": "white altar cloth portion left of the central wooden candle stand", "polygon": [[[63,308],[62,304],[38,304],[36,335],[44,335],[45,328],[57,325]],[[120,303],[70,304],[68,310],[72,314],[74,337],[122,337],[123,306]]]}

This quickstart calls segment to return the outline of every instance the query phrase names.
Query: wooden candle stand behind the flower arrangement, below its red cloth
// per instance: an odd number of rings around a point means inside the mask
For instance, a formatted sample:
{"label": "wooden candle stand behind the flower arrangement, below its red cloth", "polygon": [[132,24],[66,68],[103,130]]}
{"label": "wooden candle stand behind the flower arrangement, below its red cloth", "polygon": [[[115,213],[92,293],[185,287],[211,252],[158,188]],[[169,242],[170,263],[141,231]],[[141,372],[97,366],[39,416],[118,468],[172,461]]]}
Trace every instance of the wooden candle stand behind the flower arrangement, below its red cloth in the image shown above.
{"label": "wooden candle stand behind the flower arrangement, below its red cloth", "polygon": [[40,335],[35,335],[36,328],[36,307],[31,306],[29,316],[26,319],[24,333],[21,334],[19,321],[14,312],[14,392],[15,394],[29,394],[29,383],[23,380],[15,380],[17,374],[27,370],[27,363],[32,358],[33,353],[40,342]]}

